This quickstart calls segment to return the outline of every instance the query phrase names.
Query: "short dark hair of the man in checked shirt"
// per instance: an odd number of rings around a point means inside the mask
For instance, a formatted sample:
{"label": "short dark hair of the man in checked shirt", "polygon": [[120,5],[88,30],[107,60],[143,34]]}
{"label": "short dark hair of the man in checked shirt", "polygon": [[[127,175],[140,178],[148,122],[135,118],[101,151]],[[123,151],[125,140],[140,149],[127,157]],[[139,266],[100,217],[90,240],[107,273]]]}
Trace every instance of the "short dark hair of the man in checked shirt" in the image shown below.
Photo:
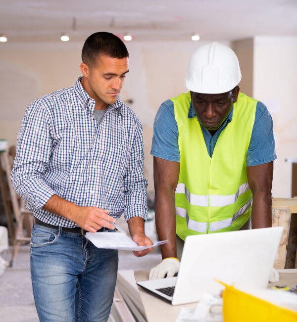
{"label": "short dark hair of the man in checked shirt", "polygon": [[104,31],[87,38],[82,50],[82,60],[90,67],[99,55],[119,59],[129,57],[128,50],[119,37]]}

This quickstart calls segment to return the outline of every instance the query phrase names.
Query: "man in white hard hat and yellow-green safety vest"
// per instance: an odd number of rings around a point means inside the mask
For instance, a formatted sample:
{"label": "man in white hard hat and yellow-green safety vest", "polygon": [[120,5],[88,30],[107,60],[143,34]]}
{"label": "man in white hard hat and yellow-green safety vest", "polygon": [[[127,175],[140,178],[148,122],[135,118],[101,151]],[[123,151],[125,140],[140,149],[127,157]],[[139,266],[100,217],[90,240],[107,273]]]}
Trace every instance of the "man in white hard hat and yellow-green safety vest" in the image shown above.
{"label": "man in white hard hat and yellow-green safety vest", "polygon": [[168,243],[150,279],[178,272],[188,235],[271,227],[272,118],[260,101],[239,92],[240,80],[231,48],[201,46],[189,63],[190,92],[157,112],[155,220],[159,239]]}

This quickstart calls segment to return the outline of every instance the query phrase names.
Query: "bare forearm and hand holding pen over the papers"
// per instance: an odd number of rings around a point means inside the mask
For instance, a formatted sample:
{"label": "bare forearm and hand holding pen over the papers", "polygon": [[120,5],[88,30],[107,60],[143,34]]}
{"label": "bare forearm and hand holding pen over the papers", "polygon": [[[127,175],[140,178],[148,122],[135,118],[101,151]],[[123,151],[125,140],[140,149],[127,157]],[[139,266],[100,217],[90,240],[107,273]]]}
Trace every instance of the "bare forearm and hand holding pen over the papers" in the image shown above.
{"label": "bare forearm and hand holding pen over the papers", "polygon": [[43,209],[70,219],[79,227],[90,232],[96,232],[102,227],[114,229],[110,223],[115,223],[115,219],[107,215],[109,210],[97,207],[80,207],[56,194],[49,199]]}

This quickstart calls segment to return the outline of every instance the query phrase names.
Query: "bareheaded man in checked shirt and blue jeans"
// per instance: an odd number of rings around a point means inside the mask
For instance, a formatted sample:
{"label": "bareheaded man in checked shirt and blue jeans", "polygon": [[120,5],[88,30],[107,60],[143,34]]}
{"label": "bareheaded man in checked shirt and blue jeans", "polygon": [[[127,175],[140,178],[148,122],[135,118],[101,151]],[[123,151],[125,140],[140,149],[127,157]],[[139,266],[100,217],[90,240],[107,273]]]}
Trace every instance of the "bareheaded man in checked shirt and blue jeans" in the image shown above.
{"label": "bareheaded man in checked shirt and blue jeans", "polygon": [[27,108],[11,173],[35,216],[31,277],[40,321],[108,319],[118,253],[96,248],[84,230],[113,230],[124,212],[132,239],[152,244],[144,231],[142,126],[118,96],[129,71],[127,48],[113,34],[95,33],[82,61],[74,87]]}

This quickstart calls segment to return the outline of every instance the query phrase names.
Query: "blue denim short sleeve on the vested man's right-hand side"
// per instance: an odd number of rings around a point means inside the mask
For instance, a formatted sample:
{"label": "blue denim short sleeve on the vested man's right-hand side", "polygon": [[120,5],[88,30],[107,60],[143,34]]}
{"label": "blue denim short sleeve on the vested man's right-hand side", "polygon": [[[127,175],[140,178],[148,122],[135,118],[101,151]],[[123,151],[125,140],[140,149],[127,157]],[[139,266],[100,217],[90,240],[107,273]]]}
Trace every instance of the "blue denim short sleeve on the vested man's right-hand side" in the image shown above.
{"label": "blue denim short sleeve on the vested man's right-hand side", "polygon": [[247,167],[276,159],[273,122],[267,107],[257,102],[255,121],[247,149]]}

